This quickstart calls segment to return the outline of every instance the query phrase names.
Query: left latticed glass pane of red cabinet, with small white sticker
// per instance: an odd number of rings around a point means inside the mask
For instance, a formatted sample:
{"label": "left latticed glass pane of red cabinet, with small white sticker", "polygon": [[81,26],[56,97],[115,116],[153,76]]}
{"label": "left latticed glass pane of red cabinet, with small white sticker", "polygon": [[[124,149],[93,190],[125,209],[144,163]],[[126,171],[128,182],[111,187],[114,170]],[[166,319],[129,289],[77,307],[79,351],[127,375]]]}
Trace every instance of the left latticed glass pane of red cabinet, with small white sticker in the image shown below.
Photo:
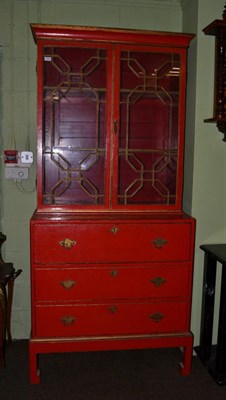
{"label": "left latticed glass pane of red cabinet, with small white sticker", "polygon": [[44,204],[103,204],[106,50],[46,47]]}

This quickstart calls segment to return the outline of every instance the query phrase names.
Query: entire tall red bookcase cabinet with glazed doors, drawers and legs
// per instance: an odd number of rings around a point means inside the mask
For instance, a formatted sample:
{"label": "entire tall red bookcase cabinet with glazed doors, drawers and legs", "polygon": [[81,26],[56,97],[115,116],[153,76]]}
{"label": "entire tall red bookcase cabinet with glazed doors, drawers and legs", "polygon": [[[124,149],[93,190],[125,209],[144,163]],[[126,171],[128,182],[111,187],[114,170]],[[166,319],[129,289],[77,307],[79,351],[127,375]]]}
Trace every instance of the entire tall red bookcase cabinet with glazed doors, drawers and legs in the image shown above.
{"label": "entire tall red bookcase cabinet with glazed doors, drawers and legs", "polygon": [[38,45],[30,379],[38,354],[183,347],[195,220],[183,213],[192,35],[32,25]]}

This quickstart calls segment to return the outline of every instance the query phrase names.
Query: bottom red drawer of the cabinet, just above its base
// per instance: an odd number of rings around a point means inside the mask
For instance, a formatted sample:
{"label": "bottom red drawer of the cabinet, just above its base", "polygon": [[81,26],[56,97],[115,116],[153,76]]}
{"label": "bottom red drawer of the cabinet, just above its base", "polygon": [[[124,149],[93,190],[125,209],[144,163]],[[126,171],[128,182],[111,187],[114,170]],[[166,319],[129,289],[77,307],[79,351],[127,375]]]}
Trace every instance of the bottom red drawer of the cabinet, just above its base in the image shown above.
{"label": "bottom red drawer of the cabinet, just above its base", "polygon": [[33,337],[152,334],[188,330],[186,302],[36,306]]}

